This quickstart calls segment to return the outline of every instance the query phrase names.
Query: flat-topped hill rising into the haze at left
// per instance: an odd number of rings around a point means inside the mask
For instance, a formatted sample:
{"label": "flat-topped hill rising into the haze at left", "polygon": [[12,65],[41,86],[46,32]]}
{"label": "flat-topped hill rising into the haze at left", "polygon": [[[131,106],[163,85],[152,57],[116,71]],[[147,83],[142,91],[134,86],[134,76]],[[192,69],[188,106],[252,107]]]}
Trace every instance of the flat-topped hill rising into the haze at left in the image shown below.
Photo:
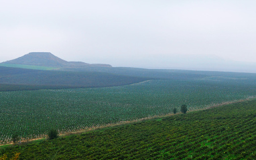
{"label": "flat-topped hill rising into the haze at left", "polygon": [[50,52],[30,52],[14,60],[3,62],[3,64],[25,64],[33,66],[80,68],[80,67],[112,67],[109,64],[87,64],[84,62],[68,62],[62,60]]}

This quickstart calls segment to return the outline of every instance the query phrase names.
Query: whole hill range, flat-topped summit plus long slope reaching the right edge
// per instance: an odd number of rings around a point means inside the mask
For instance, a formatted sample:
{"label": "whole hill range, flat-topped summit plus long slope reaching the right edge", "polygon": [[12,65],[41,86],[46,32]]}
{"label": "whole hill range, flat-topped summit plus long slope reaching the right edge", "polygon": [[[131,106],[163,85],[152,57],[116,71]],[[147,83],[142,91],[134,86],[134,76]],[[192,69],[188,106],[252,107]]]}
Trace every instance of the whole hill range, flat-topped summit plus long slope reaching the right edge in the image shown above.
{"label": "whole hill range, flat-topped summit plus long slope reaching the right edge", "polygon": [[31,52],[0,64],[0,90],[107,87],[145,80],[200,80],[213,77],[254,79],[255,74],[118,68],[108,64],[68,62],[50,52]]}

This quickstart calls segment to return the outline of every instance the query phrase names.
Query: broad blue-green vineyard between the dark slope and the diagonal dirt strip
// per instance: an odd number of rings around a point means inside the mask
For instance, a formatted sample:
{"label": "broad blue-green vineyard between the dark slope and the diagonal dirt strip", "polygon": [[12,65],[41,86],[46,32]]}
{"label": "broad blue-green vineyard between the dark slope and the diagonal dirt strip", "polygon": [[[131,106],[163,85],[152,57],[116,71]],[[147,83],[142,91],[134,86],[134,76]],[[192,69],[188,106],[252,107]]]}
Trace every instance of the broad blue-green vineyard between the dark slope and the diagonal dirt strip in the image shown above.
{"label": "broad blue-green vineyard between the dark slope and the diagonal dirt strip", "polygon": [[109,88],[23,90],[0,92],[0,144],[17,134],[21,140],[45,137],[50,129],[60,133],[132,121],[256,95],[254,79],[202,78],[149,80]]}

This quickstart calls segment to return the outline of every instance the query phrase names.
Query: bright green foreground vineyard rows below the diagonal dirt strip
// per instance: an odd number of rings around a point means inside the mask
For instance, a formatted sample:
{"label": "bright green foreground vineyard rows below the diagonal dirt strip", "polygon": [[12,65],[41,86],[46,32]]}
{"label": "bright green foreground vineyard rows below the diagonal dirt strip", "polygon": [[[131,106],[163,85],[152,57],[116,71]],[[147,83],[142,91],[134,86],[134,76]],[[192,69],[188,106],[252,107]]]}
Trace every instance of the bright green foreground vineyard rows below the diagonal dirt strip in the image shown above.
{"label": "bright green foreground vineyard rows below the diagonal dirt strip", "polygon": [[253,159],[256,100],[0,150],[21,159]]}

